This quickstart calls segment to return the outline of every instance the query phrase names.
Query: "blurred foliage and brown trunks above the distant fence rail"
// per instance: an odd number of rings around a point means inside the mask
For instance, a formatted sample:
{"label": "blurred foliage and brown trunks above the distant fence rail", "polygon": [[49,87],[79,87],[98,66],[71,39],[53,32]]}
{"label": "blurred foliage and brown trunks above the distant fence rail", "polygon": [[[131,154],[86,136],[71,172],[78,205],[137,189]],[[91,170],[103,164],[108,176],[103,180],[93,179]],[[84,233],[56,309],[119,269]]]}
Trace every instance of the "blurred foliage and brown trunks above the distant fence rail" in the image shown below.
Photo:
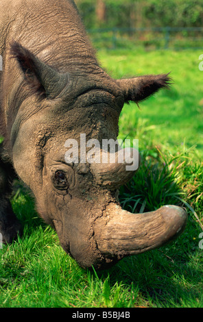
{"label": "blurred foliage and brown trunks above the distant fence rail", "polygon": [[87,28],[202,27],[202,0],[75,0]]}

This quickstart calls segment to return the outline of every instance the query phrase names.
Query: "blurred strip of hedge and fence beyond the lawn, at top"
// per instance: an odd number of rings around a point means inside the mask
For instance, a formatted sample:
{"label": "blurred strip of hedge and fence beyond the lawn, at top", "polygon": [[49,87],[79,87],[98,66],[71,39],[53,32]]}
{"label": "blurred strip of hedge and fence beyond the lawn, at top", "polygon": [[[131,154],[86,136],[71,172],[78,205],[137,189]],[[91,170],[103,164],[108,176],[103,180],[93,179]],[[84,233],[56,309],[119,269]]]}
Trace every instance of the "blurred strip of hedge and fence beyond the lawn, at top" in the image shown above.
{"label": "blurred strip of hedge and fence beyond the lawn, at top", "polygon": [[76,0],[97,47],[202,48],[201,0]]}

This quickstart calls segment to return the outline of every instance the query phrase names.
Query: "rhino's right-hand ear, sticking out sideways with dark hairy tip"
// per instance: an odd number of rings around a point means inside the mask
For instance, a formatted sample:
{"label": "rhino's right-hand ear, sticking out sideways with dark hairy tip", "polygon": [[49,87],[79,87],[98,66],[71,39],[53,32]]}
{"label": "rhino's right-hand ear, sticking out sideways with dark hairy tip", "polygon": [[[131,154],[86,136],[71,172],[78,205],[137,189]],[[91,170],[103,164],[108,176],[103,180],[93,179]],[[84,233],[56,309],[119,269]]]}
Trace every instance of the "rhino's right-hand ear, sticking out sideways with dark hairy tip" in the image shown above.
{"label": "rhino's right-hand ear, sticking out sideways with dark hairy tip", "polygon": [[132,79],[118,79],[117,83],[123,90],[125,101],[139,103],[157,92],[160,88],[169,88],[169,74],[145,75]]}

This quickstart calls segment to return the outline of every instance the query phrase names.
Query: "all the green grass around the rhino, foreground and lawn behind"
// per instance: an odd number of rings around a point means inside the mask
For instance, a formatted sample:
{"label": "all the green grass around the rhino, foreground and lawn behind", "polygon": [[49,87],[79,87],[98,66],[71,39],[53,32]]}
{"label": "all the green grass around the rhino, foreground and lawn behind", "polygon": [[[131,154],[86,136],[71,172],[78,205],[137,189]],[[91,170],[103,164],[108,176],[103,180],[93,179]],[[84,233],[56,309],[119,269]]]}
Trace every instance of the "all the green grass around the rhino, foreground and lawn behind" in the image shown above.
{"label": "all the green grass around the rhino, foreground and lawn behind", "polygon": [[99,51],[112,77],[168,73],[171,90],[126,105],[119,138],[139,138],[142,164],[121,187],[131,212],[164,204],[187,209],[184,233],[173,243],[121,260],[108,271],[86,271],[67,256],[58,236],[34,212],[16,183],[12,206],[24,234],[0,249],[0,307],[133,308],[203,307],[202,73],[198,51]]}

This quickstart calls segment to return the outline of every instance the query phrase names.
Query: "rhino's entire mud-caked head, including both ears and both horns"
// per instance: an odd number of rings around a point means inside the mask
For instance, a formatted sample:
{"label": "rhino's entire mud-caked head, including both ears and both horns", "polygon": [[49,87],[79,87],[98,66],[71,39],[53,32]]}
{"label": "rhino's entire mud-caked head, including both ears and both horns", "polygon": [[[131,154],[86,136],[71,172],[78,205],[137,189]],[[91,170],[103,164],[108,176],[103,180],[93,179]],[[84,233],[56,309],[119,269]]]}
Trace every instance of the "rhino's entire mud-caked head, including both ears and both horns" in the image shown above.
{"label": "rhino's entire mud-caked head, including both ears and both horns", "polygon": [[12,55],[30,93],[23,108],[32,106],[13,126],[14,167],[64,251],[84,268],[104,269],[176,238],[187,219],[182,208],[132,214],[119,206],[118,189],[139,166],[136,149],[102,148],[117,140],[123,104],[167,88],[168,75],[117,80],[96,64],[59,73],[17,43]]}

